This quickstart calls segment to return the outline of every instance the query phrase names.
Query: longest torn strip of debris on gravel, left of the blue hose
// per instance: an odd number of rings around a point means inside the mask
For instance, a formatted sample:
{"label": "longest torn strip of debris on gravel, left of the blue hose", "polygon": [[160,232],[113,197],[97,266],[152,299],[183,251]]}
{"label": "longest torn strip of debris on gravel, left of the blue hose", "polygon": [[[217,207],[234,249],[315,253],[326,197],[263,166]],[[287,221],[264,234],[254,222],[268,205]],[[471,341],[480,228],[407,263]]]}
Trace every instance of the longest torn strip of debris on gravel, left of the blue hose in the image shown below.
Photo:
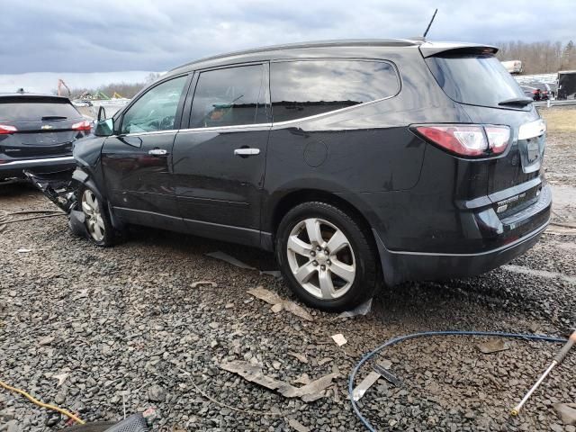
{"label": "longest torn strip of debris on gravel, left of the blue hose", "polygon": [[318,401],[326,396],[325,391],[332,384],[332,380],[340,376],[338,373],[332,373],[302,387],[294,387],[292,384],[265,375],[260,366],[250,365],[247,362],[233,360],[220,364],[220,368],[232,374],[238,374],[250,383],[257,383],[266,389],[275,390],[286,398],[301,398],[305,402]]}

